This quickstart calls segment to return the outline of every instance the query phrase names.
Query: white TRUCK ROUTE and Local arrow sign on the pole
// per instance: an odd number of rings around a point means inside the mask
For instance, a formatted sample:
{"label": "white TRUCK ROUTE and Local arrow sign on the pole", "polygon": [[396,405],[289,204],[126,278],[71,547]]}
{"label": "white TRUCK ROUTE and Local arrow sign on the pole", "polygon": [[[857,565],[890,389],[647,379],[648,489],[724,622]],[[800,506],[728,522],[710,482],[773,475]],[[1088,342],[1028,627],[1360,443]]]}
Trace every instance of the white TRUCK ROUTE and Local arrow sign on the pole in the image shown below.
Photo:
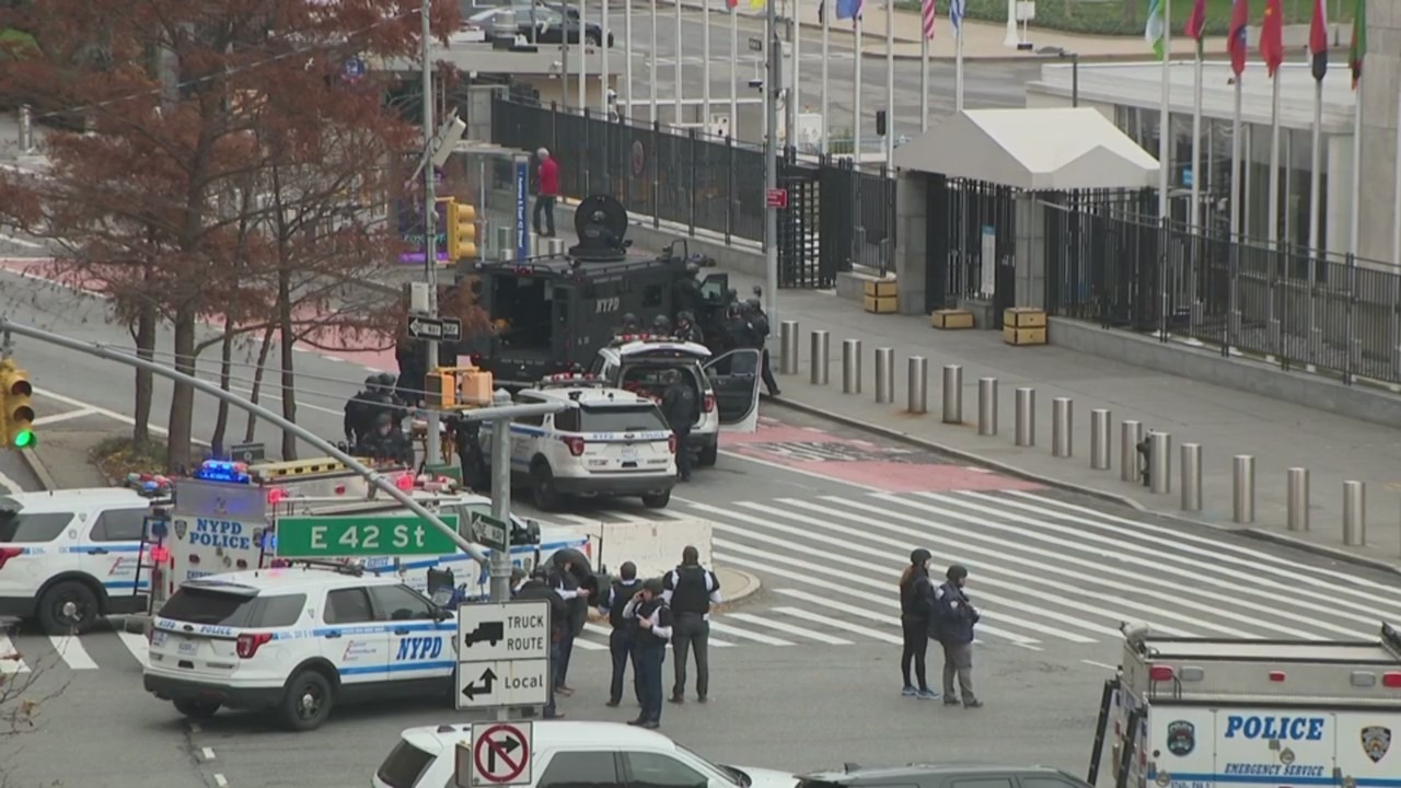
{"label": "white TRUCK ROUTE and Local arrow sign on the pole", "polygon": [[549,702],[549,600],[464,604],[457,637],[458,711]]}

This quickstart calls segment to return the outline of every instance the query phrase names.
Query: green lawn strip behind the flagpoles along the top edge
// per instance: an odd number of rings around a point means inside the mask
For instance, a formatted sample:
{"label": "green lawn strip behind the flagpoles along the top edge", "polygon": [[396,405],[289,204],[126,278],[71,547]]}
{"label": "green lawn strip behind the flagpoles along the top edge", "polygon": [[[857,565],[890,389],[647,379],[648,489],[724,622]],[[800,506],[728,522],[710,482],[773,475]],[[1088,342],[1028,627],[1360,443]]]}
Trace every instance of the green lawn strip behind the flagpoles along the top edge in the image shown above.
{"label": "green lawn strip behind the flagpoles along the top edge", "polygon": [[[908,11],[919,11],[918,0],[897,0],[895,6]],[[1282,0],[1281,6],[1285,10],[1286,25],[1309,24],[1313,15],[1311,0]],[[1007,21],[1006,0],[965,0],[964,7],[964,13],[969,20],[1002,24]],[[1230,0],[1206,0],[1206,35],[1227,34],[1230,28]],[[1142,36],[1143,25],[1147,20],[1147,8],[1149,0],[1042,0],[1037,3],[1037,18],[1033,25],[1042,29],[1086,35]],[[1328,3],[1328,21],[1351,22],[1355,10],[1356,6],[1351,0],[1341,4],[1338,0],[1332,0]],[[1192,13],[1191,0],[1174,0],[1171,13],[1173,36],[1177,38],[1182,35],[1182,29],[1187,27],[1187,17]],[[1264,13],[1264,3],[1259,0],[1251,3],[1251,48],[1255,45],[1254,38],[1258,35],[1259,20]],[[940,3],[939,14],[944,17],[940,20],[941,25],[944,25],[948,17],[946,4]],[[948,28],[943,27],[940,34],[947,35],[943,32],[946,29]],[[1150,53],[1147,43],[1143,45],[1143,52],[1146,55]]]}

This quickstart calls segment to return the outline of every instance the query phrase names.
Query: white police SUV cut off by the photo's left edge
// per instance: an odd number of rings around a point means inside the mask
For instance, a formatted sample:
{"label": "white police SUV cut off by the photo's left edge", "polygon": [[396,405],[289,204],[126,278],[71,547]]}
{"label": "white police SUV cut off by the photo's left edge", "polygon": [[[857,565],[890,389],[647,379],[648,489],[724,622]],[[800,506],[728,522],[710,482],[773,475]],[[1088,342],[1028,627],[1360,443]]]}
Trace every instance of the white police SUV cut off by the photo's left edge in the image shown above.
{"label": "white police SUV cut off by the photo's left edge", "polygon": [[149,510],[123,488],[0,496],[0,617],[69,635],[144,610],[150,583],[136,565]]}

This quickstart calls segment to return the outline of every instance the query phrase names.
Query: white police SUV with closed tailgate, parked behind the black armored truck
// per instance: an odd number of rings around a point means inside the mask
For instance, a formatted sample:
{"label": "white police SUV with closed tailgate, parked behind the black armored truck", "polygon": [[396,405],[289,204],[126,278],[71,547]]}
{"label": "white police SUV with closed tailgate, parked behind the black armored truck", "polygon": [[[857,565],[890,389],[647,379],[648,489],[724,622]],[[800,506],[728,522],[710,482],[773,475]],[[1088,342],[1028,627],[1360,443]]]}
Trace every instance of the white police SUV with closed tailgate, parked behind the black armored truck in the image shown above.
{"label": "white police SUV with closed tailgate, parked behind the black armored truck", "polygon": [[[556,374],[516,394],[517,404],[566,402],[548,416],[511,422],[511,480],[538,509],[569,495],[639,495],[660,509],[677,484],[677,440],[657,404],[587,376]],[[488,460],[492,430],[482,430]]]}

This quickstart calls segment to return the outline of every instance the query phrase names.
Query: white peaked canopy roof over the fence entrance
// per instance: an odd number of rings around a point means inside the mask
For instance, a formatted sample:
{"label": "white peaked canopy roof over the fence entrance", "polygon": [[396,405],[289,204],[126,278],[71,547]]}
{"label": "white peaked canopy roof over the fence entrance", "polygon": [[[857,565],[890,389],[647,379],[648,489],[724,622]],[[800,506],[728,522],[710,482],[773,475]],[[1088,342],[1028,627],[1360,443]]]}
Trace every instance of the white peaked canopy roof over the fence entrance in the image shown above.
{"label": "white peaked canopy roof over the fence entrance", "polygon": [[968,109],[895,149],[895,167],[1021,191],[1157,182],[1157,158],[1090,108]]}

